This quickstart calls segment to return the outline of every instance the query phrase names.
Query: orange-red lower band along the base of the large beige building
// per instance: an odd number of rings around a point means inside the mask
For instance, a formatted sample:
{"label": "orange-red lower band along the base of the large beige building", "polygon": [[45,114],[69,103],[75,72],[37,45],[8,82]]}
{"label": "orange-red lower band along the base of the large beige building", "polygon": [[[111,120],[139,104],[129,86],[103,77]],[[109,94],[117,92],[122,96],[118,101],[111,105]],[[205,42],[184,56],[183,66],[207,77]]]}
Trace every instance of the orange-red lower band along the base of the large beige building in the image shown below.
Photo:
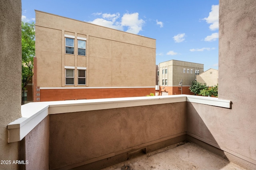
{"label": "orange-red lower band along the base of the large beige building", "polygon": [[140,97],[155,93],[155,88],[40,89],[40,101]]}

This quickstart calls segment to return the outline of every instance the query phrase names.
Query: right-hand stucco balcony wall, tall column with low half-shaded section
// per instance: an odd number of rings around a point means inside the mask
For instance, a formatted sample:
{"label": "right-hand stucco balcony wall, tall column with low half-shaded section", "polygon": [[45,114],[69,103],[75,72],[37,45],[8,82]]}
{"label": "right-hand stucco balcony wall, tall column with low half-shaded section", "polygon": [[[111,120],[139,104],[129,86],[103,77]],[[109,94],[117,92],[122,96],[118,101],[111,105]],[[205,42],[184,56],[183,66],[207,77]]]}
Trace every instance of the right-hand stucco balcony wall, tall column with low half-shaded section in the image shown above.
{"label": "right-hand stucco balcony wall, tall column with low half-shaded section", "polygon": [[[219,99],[231,109],[188,103],[188,132],[256,164],[256,1],[220,0]],[[254,166],[255,168],[256,166]]]}

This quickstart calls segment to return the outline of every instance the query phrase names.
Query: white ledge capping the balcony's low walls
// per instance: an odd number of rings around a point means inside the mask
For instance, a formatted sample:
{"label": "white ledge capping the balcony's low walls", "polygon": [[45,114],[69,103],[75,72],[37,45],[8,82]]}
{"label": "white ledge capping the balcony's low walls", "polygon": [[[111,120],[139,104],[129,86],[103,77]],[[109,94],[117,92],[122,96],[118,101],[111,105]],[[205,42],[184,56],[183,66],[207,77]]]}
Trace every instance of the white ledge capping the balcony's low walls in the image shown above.
{"label": "white ledge capping the balcony's low walls", "polygon": [[231,101],[221,100],[215,97],[194,95],[124,97],[28,103],[21,106],[22,117],[8,124],[8,142],[10,143],[22,140],[22,138],[24,138],[34,127],[36,127],[36,125],[50,114],[158,105],[185,101],[224,108],[230,108],[231,103]]}

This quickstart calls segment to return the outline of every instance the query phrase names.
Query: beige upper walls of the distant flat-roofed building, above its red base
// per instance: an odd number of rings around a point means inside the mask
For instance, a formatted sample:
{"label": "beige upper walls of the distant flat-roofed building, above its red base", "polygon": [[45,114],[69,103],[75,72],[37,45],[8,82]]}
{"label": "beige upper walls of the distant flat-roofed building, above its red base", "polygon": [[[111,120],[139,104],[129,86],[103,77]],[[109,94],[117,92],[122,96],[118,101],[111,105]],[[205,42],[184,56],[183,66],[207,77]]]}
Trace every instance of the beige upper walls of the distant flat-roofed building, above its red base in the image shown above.
{"label": "beige upper walls of the distant flat-roofed building, above its red base", "polygon": [[[167,74],[162,74],[162,69],[167,69]],[[185,69],[185,73],[184,73]],[[192,73],[191,73],[192,70]],[[199,63],[190,63],[186,61],[170,60],[159,63],[159,82],[162,86],[162,80],[168,82],[167,86],[179,86],[182,79],[183,86],[190,86],[191,82],[196,79],[195,71],[199,70],[199,74],[204,71],[204,65]],[[187,72],[188,71],[188,72]],[[164,83],[164,86],[165,83]]]}

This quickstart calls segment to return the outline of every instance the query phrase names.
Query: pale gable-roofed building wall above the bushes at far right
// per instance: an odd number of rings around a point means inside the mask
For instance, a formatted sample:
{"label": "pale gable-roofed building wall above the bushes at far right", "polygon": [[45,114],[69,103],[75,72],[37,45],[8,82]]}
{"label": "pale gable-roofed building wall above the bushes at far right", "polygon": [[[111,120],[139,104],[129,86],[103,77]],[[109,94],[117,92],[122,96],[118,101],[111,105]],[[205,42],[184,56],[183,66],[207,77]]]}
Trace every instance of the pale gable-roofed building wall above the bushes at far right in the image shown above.
{"label": "pale gable-roofed building wall above the bushes at far right", "polygon": [[207,71],[196,75],[196,81],[199,83],[206,83],[209,87],[215,86],[218,84],[218,70],[208,69]]}

